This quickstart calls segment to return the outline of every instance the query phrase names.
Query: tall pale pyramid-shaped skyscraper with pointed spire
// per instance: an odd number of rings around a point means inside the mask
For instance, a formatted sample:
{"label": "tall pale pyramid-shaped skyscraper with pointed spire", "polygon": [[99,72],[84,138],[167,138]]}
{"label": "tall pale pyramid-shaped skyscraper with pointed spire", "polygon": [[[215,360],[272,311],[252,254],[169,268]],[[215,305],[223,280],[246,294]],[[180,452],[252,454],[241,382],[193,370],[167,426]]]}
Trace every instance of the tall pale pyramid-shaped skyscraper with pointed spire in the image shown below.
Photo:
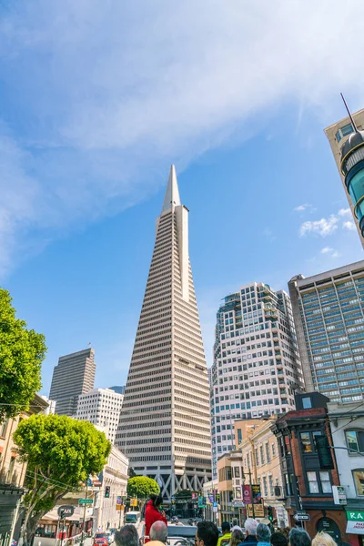
{"label": "tall pale pyramid-shaped skyscraper with pointed spire", "polygon": [[156,479],[167,501],[211,477],[208,393],[188,209],[172,166],[116,434],[136,474]]}

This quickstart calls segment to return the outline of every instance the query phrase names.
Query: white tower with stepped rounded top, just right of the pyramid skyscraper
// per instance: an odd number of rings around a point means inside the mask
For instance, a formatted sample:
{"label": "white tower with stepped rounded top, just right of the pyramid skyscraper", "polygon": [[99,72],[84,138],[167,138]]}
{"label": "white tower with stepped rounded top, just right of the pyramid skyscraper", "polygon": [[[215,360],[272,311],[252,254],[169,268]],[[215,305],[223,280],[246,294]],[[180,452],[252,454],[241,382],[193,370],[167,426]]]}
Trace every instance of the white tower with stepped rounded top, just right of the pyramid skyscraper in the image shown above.
{"label": "white tower with stepped rounded top, just right of the pyramid skyscraper", "polygon": [[210,391],[212,468],[234,450],[234,420],[295,409],[304,387],[288,295],[253,282],[217,311]]}

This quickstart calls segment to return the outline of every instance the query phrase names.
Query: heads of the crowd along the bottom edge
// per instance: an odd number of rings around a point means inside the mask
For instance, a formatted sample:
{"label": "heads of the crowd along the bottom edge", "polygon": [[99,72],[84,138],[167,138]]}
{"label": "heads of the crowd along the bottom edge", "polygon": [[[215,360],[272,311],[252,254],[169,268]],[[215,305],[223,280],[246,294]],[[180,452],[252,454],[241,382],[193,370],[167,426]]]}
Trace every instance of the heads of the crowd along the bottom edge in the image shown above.
{"label": "heads of the crowd along the bottom edge", "polygon": [[[300,527],[272,532],[265,523],[248,518],[244,530],[238,525],[230,527],[226,521],[219,536],[217,525],[212,521],[199,521],[195,546],[337,546],[326,532],[318,532],[311,541],[308,532]],[[166,521],[157,520],[148,530],[148,546],[165,546],[167,543]],[[134,525],[126,525],[116,531],[116,546],[139,546],[139,536]]]}

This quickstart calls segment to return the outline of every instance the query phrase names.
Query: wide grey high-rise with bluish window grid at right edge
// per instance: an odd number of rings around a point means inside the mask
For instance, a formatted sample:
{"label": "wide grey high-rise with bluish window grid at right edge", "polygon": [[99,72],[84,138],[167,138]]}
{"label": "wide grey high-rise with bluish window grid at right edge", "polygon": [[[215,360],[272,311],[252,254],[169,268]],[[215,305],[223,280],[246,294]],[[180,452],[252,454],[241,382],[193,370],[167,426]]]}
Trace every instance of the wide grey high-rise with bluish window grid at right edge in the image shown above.
{"label": "wide grey high-rise with bluish window grid at right edge", "polygon": [[363,399],[364,260],[288,283],[308,392]]}

